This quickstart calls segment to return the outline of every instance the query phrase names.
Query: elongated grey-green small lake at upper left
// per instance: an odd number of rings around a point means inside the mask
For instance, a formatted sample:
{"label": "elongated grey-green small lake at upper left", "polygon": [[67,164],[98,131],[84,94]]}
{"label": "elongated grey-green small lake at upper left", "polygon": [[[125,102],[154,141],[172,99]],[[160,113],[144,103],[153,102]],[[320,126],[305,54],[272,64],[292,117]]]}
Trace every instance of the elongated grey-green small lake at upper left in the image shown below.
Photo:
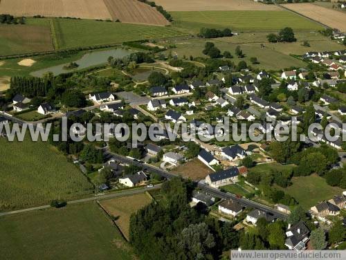
{"label": "elongated grey-green small lake at upper left", "polygon": [[130,55],[131,53],[133,53],[133,51],[125,50],[122,48],[113,50],[93,51],[91,53],[86,53],[82,58],[73,61],[79,65],[78,68],[66,70],[64,69],[64,66],[68,65],[69,63],[65,63],[48,68],[42,68],[39,71],[34,71],[33,73],[30,73],[30,75],[33,75],[35,77],[42,77],[47,72],[52,72],[55,76],[63,73],[70,73],[71,71],[78,71],[83,68],[89,68],[91,66],[107,63],[107,59],[109,56],[112,56],[114,58],[122,58],[127,55]]}

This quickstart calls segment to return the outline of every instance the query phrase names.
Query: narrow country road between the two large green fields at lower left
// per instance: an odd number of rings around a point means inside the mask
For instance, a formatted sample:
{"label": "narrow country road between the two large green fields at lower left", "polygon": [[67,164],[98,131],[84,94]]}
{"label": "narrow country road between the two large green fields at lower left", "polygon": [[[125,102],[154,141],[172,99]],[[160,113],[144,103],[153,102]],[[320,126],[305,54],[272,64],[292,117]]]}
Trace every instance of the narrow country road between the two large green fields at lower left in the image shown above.
{"label": "narrow country road between the two large green fields at lower left", "polygon": [[[95,195],[90,198],[81,198],[79,200],[75,201],[68,201],[67,204],[75,204],[75,203],[83,203],[83,202],[88,202],[88,201],[99,201],[99,200],[104,200],[104,199],[109,199],[109,198],[119,198],[119,197],[124,197],[124,196],[130,196],[134,194],[141,194],[146,192],[149,189],[155,189],[161,187],[161,184],[155,185],[152,188],[144,187],[140,189],[129,189],[125,190],[124,192],[116,192],[112,194],[105,194],[105,195]],[[24,212],[30,212],[34,210],[44,210],[47,209],[48,207],[51,207],[51,205],[44,205],[44,206],[39,206],[39,207],[30,207],[28,209],[24,210],[14,210],[11,212],[0,212],[0,216],[7,216],[7,215],[12,215],[12,214],[18,214],[18,213],[24,213]]]}

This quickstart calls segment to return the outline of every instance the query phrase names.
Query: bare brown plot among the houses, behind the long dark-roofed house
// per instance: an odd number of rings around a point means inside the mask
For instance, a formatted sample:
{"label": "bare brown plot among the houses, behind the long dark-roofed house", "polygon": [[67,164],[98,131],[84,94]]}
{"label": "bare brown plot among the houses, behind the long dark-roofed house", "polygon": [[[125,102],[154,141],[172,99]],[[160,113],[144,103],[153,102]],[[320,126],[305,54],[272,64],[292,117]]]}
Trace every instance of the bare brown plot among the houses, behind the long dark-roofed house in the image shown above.
{"label": "bare brown plot among the houses, behind the long dark-roofed house", "polygon": [[206,178],[206,176],[212,173],[212,169],[208,166],[204,165],[197,158],[188,161],[188,163],[184,163],[183,165],[179,165],[173,170],[176,174],[181,174],[183,177],[191,178],[191,180],[201,180]]}

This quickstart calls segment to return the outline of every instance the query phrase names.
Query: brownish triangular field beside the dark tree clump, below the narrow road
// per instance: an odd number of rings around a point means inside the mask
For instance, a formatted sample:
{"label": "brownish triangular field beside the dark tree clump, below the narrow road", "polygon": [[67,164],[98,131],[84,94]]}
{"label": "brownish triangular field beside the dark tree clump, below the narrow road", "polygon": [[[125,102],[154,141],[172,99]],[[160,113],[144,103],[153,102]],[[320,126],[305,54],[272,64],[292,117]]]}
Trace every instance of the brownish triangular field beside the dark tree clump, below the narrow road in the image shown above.
{"label": "brownish triangular field beside the dark tree clump, below the narrow road", "polygon": [[145,193],[122,198],[113,198],[107,201],[100,201],[100,204],[111,215],[116,217],[116,225],[122,234],[129,239],[129,220],[133,213],[152,202],[152,199]]}

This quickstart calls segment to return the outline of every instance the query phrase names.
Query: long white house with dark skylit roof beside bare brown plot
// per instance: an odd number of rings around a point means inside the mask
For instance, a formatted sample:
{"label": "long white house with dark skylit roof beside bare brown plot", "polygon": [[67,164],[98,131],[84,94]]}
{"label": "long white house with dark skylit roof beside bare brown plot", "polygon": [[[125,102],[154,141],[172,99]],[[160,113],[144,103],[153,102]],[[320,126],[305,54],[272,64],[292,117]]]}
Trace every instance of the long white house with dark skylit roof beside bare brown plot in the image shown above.
{"label": "long white house with dark skylit roof beside bare brown plot", "polygon": [[208,176],[206,176],[206,184],[210,187],[219,188],[224,185],[236,183],[238,176],[239,169],[237,167],[231,167],[229,169],[208,174]]}

